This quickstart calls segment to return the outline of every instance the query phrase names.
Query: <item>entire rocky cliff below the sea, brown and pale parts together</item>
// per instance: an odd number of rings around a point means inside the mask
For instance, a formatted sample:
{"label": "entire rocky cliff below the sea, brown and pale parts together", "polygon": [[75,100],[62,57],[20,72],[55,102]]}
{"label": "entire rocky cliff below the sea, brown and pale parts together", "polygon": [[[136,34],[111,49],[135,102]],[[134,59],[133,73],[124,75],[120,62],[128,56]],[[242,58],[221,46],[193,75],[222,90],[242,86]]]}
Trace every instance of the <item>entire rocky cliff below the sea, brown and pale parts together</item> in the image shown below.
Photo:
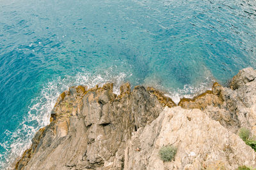
{"label": "entire rocky cliff below the sea, brown and pale parts together", "polygon": [[[256,154],[237,136],[256,136],[256,71],[246,68],[230,88],[212,90],[179,106],[163,92],[129,83],[70,87],[15,169],[236,169],[256,167]],[[162,146],[177,147],[163,162]]]}

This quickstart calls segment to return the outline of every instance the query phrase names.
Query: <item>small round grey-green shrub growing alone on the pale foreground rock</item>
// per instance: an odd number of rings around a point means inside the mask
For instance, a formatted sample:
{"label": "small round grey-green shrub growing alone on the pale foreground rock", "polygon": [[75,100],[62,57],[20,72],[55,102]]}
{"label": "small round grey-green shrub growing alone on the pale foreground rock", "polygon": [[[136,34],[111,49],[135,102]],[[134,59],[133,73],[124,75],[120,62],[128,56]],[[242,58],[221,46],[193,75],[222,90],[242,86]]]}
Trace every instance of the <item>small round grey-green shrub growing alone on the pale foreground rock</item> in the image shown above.
{"label": "small round grey-green shrub growing alone on the pale foreground rock", "polygon": [[163,146],[159,150],[159,156],[164,162],[172,161],[176,153],[177,153],[177,148],[171,145]]}

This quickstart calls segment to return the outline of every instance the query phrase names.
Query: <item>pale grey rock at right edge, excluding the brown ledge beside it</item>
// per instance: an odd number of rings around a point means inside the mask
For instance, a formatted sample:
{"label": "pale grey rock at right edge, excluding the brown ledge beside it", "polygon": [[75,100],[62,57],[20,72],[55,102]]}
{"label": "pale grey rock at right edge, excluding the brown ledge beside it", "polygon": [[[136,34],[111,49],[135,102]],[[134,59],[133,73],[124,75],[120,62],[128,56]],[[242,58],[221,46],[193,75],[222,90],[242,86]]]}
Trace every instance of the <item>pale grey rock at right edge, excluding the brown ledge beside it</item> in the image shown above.
{"label": "pale grey rock at right edge, excluding the brown ledge beside it", "polygon": [[246,68],[234,76],[229,89],[223,88],[225,100],[224,110],[236,120],[238,127],[250,129],[251,135],[256,136],[256,71]]}

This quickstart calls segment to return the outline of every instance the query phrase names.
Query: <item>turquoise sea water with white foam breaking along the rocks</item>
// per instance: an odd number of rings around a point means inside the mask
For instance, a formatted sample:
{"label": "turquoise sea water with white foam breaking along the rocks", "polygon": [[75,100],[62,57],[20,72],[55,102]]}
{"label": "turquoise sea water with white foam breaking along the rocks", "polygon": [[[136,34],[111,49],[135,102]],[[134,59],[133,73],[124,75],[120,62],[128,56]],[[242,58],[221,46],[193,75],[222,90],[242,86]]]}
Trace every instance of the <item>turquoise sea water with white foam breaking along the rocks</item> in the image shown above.
{"label": "turquoise sea water with white foam breaking along the rocks", "polygon": [[254,0],[0,0],[0,169],[63,90],[107,81],[177,99],[256,63]]}

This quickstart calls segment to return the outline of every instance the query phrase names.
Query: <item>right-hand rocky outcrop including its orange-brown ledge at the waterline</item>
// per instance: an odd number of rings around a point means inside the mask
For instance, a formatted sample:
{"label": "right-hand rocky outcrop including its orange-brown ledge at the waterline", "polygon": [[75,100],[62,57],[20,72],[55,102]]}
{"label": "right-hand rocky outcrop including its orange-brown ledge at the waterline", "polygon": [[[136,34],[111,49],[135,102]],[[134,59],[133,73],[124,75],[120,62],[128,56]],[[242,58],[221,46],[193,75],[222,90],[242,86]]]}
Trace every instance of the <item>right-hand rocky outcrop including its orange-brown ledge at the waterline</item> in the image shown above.
{"label": "right-hand rocky outcrop including its orange-brown ledge at the waterline", "polygon": [[250,129],[256,136],[256,71],[252,67],[242,69],[232,78],[229,87],[214,83],[193,99],[181,99],[178,104],[185,109],[198,108],[228,131],[236,133],[241,127]]}

